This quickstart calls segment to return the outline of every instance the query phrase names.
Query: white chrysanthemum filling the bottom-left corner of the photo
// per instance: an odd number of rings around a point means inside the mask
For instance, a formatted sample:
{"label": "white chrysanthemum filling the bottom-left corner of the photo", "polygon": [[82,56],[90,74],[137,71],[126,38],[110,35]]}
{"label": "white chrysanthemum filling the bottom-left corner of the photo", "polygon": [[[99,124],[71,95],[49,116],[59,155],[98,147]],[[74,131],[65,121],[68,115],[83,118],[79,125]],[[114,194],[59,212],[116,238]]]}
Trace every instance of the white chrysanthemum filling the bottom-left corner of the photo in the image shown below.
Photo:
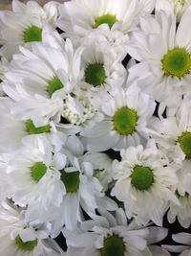
{"label": "white chrysanthemum filling the bottom-left corner of the photo", "polygon": [[24,221],[21,208],[4,202],[0,206],[0,254],[5,256],[58,256],[59,246],[49,239],[50,227]]}

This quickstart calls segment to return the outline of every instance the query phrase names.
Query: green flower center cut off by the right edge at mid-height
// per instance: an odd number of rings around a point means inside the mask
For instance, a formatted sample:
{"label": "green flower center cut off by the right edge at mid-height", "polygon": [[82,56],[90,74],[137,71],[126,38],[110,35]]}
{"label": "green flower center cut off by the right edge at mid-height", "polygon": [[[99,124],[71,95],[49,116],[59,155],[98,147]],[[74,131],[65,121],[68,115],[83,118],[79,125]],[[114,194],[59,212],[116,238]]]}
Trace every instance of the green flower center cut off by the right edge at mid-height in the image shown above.
{"label": "green flower center cut off by the right edge at mid-height", "polygon": [[185,153],[187,159],[191,159],[191,132],[185,131],[178,138],[180,149]]}

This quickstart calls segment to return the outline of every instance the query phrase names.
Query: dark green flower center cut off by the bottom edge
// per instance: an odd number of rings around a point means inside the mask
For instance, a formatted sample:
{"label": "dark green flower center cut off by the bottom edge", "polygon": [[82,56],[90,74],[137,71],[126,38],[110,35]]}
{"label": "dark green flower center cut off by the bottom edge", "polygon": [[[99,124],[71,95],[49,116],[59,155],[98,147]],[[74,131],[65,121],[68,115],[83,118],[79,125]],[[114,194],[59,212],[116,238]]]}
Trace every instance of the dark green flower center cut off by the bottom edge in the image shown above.
{"label": "dark green flower center cut off by the bottom edge", "polygon": [[103,248],[100,249],[100,256],[124,256],[125,244],[122,238],[117,235],[107,237],[104,240]]}

